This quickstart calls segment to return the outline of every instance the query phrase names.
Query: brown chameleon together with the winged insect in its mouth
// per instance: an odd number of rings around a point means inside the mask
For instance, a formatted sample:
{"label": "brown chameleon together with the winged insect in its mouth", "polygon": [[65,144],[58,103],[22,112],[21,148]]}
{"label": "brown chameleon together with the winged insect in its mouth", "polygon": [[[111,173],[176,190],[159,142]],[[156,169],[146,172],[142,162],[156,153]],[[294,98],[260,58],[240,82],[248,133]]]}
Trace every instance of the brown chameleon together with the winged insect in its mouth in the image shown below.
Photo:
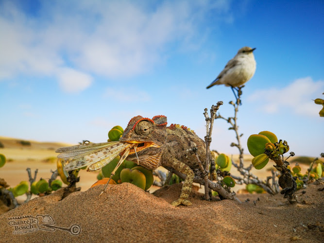
{"label": "brown chameleon together with the winged insect in its mouth", "polygon": [[205,141],[186,126],[167,126],[166,116],[154,116],[152,119],[142,116],[132,118],[117,142],[75,145],[60,148],[56,152],[61,152],[58,157],[70,160],[65,166],[66,170],[90,165],[88,171],[93,171],[102,168],[112,157],[118,156],[120,150],[119,164],[127,158],[149,170],[162,166],[186,174],[180,197],[171,205],[191,205],[188,197],[194,171],[201,166],[205,168]]}

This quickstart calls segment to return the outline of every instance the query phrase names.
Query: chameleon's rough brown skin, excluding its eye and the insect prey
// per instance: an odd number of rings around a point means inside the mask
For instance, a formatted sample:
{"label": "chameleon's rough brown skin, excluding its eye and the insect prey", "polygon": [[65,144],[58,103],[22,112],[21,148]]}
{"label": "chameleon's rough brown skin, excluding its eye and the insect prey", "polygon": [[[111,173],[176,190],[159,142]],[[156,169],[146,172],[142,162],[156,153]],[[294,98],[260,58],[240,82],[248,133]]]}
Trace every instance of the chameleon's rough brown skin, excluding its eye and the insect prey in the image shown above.
{"label": "chameleon's rough brown skin, excluding its eye and the insect prey", "polygon": [[[140,126],[141,121],[148,121],[153,124],[152,128],[149,129],[150,134],[143,136],[136,133],[136,126]],[[205,167],[206,150],[204,140],[185,126],[171,124],[171,126],[167,127],[167,117],[165,116],[155,116],[153,119],[137,116],[128,123],[119,141],[151,142],[159,146],[151,146],[137,151],[139,164],[151,170],[159,166],[172,167],[176,171],[186,174],[187,177],[182,186],[181,195],[172,205],[191,204],[188,201],[188,196],[191,192],[194,177],[193,170],[199,170],[200,168],[197,156]],[[127,159],[136,162],[136,154],[131,152]]]}

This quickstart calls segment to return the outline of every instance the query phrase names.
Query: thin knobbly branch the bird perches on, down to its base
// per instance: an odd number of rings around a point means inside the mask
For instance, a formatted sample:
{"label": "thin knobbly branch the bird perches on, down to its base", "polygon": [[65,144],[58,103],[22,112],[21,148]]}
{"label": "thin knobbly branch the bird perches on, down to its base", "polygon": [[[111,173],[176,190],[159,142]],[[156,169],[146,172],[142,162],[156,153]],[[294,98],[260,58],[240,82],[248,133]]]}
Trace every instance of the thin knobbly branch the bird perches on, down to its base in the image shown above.
{"label": "thin knobbly branch the bird perches on, down to its base", "polygon": [[[268,178],[266,181],[261,181],[258,179],[257,176],[251,174],[251,169],[252,169],[252,164],[244,168],[244,160],[243,160],[243,148],[241,145],[240,138],[243,136],[243,134],[239,134],[239,126],[237,124],[237,117],[238,117],[238,112],[239,112],[239,104],[241,101],[241,95],[242,95],[242,88],[244,86],[238,87],[238,96],[236,98],[236,102],[234,103],[233,101],[229,102],[229,104],[232,104],[234,107],[234,117],[229,117],[229,118],[224,118],[220,113],[215,117],[215,119],[223,119],[227,121],[230,124],[230,127],[228,128],[229,130],[233,130],[236,135],[237,143],[232,142],[231,147],[237,147],[239,150],[239,165],[236,164],[233,159],[232,159],[232,164],[234,167],[237,168],[239,173],[242,175],[240,176],[234,176],[231,175],[234,179],[237,180],[238,184],[255,184],[263,188],[263,190],[267,191],[268,193],[274,195],[279,192],[279,184],[276,181],[276,175],[278,174],[277,172],[273,172],[273,176]],[[270,179],[272,180],[272,183],[270,183]]]}

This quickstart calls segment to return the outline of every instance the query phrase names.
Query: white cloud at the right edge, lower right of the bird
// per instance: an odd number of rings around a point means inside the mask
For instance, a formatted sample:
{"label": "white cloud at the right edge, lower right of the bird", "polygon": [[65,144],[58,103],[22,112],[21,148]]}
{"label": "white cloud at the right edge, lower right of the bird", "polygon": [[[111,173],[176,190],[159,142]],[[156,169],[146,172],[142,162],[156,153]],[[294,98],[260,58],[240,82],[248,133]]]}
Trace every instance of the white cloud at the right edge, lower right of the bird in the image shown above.
{"label": "white cloud at the right edge, lower right of the bird", "polygon": [[275,114],[280,110],[292,110],[299,115],[318,116],[320,110],[313,100],[321,98],[324,81],[313,81],[311,77],[296,79],[282,88],[256,90],[249,98],[258,110]]}

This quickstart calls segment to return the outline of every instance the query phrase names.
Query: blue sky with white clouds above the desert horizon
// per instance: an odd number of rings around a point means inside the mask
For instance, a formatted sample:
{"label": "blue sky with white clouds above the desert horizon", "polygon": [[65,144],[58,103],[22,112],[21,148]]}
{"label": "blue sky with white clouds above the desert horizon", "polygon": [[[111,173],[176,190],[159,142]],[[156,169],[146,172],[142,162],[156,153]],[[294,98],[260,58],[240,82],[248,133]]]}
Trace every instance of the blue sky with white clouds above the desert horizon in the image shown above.
{"label": "blue sky with white clouds above the desert horizon", "polygon": [[[263,130],[296,155],[324,152],[323,1],[0,0],[0,136],[103,142],[114,125],[165,115],[204,138],[209,85],[243,46],[256,47],[239,132]],[[237,154],[216,120],[211,148]]]}

